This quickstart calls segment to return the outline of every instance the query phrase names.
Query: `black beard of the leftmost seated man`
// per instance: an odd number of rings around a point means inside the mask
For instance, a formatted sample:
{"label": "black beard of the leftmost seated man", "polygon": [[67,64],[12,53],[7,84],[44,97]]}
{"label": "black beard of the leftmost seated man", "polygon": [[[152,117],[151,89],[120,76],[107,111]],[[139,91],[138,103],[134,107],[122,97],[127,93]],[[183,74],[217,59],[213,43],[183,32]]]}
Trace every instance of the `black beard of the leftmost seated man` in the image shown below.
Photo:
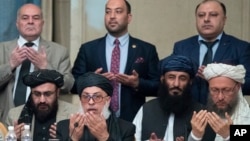
{"label": "black beard of the leftmost seated man", "polygon": [[[58,110],[58,100],[57,99],[53,102],[52,106],[49,106],[45,103],[39,103],[37,106],[35,106],[33,101],[31,101],[31,105],[32,105],[32,107],[34,107],[33,110],[34,110],[36,120],[38,120],[41,123],[44,123],[44,122],[50,120],[51,118],[56,117],[57,110]],[[38,107],[41,105],[47,106],[48,110],[46,110],[46,111],[39,110]]]}

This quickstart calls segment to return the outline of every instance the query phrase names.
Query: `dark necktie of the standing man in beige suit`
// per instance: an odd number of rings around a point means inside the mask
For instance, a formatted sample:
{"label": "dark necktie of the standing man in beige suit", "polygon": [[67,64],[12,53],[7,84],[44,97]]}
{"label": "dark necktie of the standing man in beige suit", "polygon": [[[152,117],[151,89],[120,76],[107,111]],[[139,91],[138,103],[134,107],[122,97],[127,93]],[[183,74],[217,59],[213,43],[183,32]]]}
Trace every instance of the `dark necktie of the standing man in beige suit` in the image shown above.
{"label": "dark necktie of the standing man in beige suit", "polygon": [[[27,47],[32,47],[34,43],[28,42],[24,44]],[[22,63],[22,67],[19,72],[18,80],[17,80],[17,85],[16,85],[16,91],[14,95],[14,103],[15,106],[19,106],[25,103],[26,101],[26,91],[27,91],[27,86],[23,84],[23,76],[28,74],[30,71],[30,60],[26,59]]]}

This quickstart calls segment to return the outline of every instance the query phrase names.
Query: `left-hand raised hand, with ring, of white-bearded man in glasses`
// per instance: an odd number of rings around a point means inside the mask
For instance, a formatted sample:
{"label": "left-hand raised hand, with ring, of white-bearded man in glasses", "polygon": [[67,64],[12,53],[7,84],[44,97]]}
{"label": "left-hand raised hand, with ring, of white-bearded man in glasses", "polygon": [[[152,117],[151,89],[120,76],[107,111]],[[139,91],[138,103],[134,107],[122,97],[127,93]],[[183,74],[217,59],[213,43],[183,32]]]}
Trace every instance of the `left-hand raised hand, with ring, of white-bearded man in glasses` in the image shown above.
{"label": "left-hand raised hand, with ring, of white-bearded man in glasses", "polygon": [[[72,114],[69,119],[69,136],[72,141],[79,141],[84,132],[84,115],[81,113]],[[77,127],[75,124],[77,123]]]}

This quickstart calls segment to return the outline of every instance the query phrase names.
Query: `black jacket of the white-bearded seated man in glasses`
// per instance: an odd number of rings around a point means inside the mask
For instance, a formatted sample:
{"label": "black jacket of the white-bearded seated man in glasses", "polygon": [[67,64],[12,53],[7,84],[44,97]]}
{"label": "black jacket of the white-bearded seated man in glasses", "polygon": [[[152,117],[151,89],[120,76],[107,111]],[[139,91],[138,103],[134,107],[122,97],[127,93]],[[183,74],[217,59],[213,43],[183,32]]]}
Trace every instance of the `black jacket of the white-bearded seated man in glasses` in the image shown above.
{"label": "black jacket of the white-bearded seated man in glasses", "polygon": [[[107,120],[107,130],[109,132],[108,141],[134,141],[135,137],[135,125],[131,122],[119,119],[114,117],[115,119]],[[111,123],[112,121],[112,123]],[[88,128],[85,126],[83,131],[83,136],[80,141],[95,141],[93,135],[91,135]],[[112,133],[111,133],[112,132]],[[60,141],[68,141],[70,139],[69,136],[69,120],[62,120],[57,123],[57,138]],[[120,140],[121,139],[121,140]]]}

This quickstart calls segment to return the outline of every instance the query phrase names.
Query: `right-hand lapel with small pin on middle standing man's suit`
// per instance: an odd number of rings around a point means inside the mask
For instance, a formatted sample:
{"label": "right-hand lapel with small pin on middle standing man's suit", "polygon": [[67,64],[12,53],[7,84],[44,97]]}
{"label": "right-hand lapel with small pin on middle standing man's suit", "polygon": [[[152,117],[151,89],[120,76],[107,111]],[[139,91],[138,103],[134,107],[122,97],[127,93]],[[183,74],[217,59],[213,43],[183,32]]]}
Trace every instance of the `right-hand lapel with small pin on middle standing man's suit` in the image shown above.
{"label": "right-hand lapel with small pin on middle standing man's suit", "polygon": [[126,64],[125,72],[124,72],[125,74],[131,73],[133,69],[133,65],[134,65],[136,52],[138,51],[139,48],[140,46],[136,43],[134,38],[129,36],[128,57],[127,57],[127,64]]}

